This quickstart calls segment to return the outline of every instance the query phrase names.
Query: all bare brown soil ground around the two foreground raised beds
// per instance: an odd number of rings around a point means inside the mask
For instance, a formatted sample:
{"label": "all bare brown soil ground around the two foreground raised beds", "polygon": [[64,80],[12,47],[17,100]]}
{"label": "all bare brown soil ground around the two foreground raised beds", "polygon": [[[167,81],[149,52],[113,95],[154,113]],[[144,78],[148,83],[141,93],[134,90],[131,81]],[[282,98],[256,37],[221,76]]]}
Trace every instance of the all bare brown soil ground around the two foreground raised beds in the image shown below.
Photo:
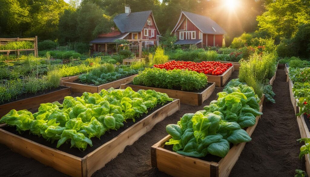
{"label": "all bare brown soil ground around the two foreground raised beds", "polygon": [[[238,77],[238,71],[232,78]],[[201,106],[181,104],[181,110],[157,123],[154,128],[140,137],[133,145],[127,146],[123,153],[93,174],[93,177],[117,176],[169,176],[151,167],[150,148],[167,135],[166,125],[175,124],[185,113],[202,110],[223,87],[216,87],[213,94]],[[294,176],[295,169],[305,170],[303,161],[298,159],[301,144],[299,129],[294,118],[294,110],[289,99],[285,73],[278,70],[274,82],[276,104],[266,103],[252,141],[247,143],[235,167],[232,177],[245,176]],[[0,144],[0,176],[62,177],[64,175],[34,159],[23,157]],[[104,158],[104,157],[103,157]]]}

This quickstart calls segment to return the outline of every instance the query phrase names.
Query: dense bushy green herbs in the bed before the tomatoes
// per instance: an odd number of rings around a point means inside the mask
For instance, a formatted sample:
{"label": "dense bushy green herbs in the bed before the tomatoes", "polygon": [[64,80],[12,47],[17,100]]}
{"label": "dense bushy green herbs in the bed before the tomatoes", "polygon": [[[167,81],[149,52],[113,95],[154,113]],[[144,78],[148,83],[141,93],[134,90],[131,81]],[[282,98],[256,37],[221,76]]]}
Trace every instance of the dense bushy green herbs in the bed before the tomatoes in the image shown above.
{"label": "dense bushy green herbs in the bed before the tomatoes", "polygon": [[[156,78],[156,79],[154,79]],[[203,73],[174,69],[146,68],[134,77],[133,84],[174,90],[199,90],[207,85]]]}

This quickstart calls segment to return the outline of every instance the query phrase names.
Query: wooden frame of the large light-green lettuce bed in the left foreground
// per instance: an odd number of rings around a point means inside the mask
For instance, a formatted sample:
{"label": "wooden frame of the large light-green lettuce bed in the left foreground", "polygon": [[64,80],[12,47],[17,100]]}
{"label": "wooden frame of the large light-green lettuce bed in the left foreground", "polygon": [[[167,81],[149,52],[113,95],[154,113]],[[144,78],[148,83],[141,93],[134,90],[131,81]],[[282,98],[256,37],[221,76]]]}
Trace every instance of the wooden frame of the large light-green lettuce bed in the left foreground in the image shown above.
{"label": "wooden frame of the large light-green lettuce bed in the left foreground", "polygon": [[16,153],[34,158],[64,174],[74,177],[90,177],[95,171],[122,153],[127,145],[132,145],[158,122],[179,109],[179,100],[166,104],[83,158],[38,144],[1,128],[0,143],[5,144]]}

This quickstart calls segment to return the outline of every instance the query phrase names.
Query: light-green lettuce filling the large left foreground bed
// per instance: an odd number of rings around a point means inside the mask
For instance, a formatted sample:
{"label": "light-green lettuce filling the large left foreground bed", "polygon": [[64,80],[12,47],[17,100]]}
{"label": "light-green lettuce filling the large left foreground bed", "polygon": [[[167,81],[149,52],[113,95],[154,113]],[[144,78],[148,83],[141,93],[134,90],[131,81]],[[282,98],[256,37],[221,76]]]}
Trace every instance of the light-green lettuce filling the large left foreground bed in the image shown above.
{"label": "light-green lettuce filling the large left foreground bed", "polygon": [[56,148],[68,141],[71,147],[85,150],[92,146],[91,138],[100,138],[106,131],[123,127],[124,121],[135,122],[157,104],[167,101],[172,99],[165,93],[111,88],[94,94],[84,92],[81,97],[66,96],[63,104],[41,104],[34,114],[12,109],[0,122],[15,126],[19,133],[29,131],[52,143],[58,141]]}

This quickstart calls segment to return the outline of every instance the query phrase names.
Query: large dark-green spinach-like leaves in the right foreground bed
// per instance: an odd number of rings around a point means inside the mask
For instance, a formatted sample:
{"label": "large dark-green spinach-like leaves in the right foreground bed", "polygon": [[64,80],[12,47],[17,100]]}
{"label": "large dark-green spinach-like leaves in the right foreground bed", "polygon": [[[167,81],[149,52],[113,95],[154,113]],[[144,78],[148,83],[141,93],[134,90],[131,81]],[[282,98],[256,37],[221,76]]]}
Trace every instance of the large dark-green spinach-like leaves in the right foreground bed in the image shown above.
{"label": "large dark-green spinach-like leaves in the right foreground bed", "polygon": [[242,128],[255,125],[255,116],[262,115],[254,90],[241,83],[217,95],[218,99],[204,110],[184,114],[177,124],[167,125],[172,138],[165,145],[173,145],[173,151],[185,156],[212,154],[224,158],[230,143],[251,141]]}

